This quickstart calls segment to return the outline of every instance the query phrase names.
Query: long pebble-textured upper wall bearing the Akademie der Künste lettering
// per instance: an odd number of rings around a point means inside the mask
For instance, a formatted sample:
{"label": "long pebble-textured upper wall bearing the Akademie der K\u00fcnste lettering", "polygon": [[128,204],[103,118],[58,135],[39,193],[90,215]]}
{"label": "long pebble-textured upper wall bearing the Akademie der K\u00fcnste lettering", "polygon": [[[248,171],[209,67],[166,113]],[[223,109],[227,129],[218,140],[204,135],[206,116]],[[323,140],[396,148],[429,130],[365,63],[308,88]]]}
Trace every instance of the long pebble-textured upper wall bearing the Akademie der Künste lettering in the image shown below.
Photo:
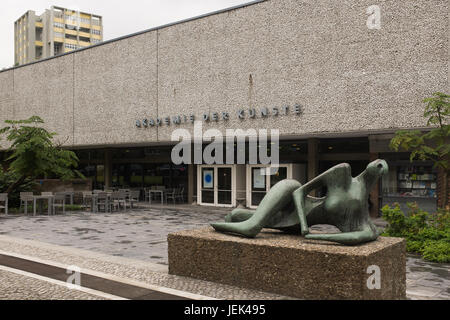
{"label": "long pebble-textured upper wall bearing the Akademie der K\u00fcnste lettering", "polygon": [[[373,4],[380,30],[366,25]],[[268,0],[2,72],[0,117],[40,115],[68,146],[167,142],[192,125],[135,121],[222,111],[205,130],[420,128],[423,98],[450,91],[448,21],[446,0]],[[302,115],[236,115],[295,103]]]}

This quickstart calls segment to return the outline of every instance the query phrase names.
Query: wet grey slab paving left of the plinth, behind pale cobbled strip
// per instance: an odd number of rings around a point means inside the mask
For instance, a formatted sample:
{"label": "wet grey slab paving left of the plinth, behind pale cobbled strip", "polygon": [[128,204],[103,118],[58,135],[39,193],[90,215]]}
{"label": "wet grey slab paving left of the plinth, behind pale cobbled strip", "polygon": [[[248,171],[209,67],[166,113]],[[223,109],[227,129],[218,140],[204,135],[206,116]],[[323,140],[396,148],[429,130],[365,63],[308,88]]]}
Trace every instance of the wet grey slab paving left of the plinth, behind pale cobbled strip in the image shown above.
{"label": "wet grey slab paving left of the plinth, behind pale cobbled strip", "polygon": [[167,235],[222,221],[221,210],[140,209],[125,213],[4,216],[0,235],[102,252],[167,265]]}

